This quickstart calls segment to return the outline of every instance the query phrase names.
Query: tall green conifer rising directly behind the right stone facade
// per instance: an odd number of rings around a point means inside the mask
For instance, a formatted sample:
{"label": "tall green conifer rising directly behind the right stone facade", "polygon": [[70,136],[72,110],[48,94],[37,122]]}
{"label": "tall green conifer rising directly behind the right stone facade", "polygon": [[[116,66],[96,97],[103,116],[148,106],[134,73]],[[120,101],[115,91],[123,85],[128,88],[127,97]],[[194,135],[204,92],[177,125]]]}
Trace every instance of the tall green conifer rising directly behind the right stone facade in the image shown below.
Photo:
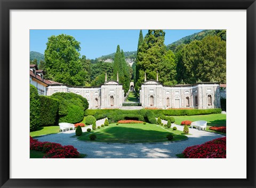
{"label": "tall green conifer rising directly behind the right stone facade", "polygon": [[145,72],[147,80],[156,80],[157,70],[159,72],[159,81],[162,81],[163,84],[175,84],[175,55],[171,51],[167,51],[164,45],[164,36],[165,32],[163,30],[148,30],[138,50],[136,90],[144,82]]}

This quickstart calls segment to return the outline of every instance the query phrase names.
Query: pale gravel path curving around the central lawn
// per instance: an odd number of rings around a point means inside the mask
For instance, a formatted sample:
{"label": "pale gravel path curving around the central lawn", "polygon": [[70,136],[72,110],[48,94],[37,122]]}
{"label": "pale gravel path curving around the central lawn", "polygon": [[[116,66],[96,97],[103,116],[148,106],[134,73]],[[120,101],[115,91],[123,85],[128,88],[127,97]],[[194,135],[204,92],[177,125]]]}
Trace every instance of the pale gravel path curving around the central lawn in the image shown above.
{"label": "pale gravel path curving around the central lawn", "polygon": [[[96,122],[97,126],[103,124],[105,119]],[[164,124],[167,124],[162,120]],[[174,125],[178,130],[183,131],[183,126]],[[172,125],[173,127],[173,125]],[[83,127],[83,132],[90,126]],[[107,127],[105,128],[107,129]],[[58,134],[50,134],[37,138],[39,141],[57,142],[63,146],[72,145],[80,153],[85,153],[86,158],[177,158],[175,155],[181,153],[188,146],[202,144],[204,142],[217,139],[223,135],[206,131],[190,129],[187,135],[188,140],[180,142],[163,142],[163,143],[95,143],[79,141],[76,138],[70,138],[75,135],[75,131],[61,132]]]}

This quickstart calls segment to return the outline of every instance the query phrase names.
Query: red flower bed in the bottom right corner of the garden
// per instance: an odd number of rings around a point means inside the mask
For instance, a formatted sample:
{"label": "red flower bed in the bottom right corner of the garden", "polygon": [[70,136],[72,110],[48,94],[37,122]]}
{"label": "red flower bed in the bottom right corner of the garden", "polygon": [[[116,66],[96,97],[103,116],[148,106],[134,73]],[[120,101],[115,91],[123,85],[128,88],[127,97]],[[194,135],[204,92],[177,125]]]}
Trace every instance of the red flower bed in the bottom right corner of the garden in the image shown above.
{"label": "red flower bed in the bottom right corner of the garden", "polygon": [[226,137],[187,147],[182,153],[185,158],[226,158]]}

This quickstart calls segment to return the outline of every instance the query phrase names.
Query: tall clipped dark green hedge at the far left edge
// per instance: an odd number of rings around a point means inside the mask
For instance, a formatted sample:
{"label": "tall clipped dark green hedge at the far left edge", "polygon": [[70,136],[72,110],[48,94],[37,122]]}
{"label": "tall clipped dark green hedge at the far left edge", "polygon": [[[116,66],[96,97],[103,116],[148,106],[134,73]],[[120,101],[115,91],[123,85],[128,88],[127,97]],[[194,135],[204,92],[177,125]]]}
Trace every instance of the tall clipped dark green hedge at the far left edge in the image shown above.
{"label": "tall clipped dark green hedge at the far left edge", "polygon": [[36,131],[40,125],[40,101],[35,86],[30,84],[30,131]]}

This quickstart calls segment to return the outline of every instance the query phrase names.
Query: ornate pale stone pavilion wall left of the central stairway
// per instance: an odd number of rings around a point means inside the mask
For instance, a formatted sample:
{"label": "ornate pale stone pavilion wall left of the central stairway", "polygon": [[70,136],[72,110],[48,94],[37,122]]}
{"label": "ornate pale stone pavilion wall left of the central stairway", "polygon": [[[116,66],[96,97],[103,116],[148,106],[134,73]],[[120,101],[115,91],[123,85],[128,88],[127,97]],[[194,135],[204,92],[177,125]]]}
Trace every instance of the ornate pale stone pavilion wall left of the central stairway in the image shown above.
{"label": "ornate pale stone pavilion wall left of the central stairway", "polygon": [[97,87],[75,87],[61,83],[54,83],[47,87],[47,96],[55,92],[73,92],[81,95],[89,102],[89,109],[120,108],[124,102],[123,85],[118,82],[118,73],[117,81],[107,81],[106,73],[105,83]]}

